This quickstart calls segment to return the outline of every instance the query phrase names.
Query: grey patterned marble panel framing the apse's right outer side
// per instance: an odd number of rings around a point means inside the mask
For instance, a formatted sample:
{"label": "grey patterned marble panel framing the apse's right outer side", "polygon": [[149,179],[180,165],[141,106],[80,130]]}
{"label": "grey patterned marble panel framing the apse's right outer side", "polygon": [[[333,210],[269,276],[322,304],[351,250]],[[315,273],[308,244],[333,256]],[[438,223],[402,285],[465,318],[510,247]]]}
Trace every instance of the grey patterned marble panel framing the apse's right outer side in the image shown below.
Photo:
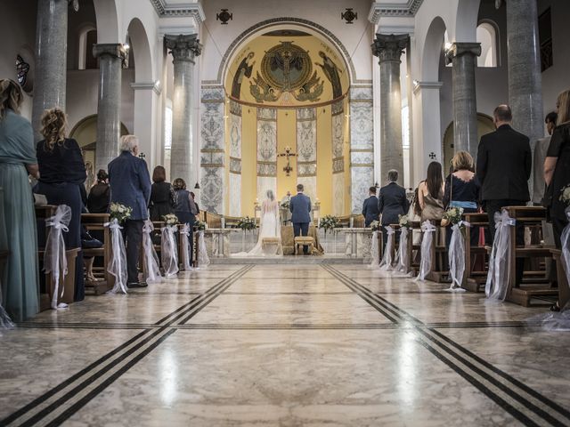
{"label": "grey patterned marble panel framing the apse's right outer side", "polygon": [[368,189],[374,184],[374,124],[372,86],[350,89],[351,211],[362,212]]}

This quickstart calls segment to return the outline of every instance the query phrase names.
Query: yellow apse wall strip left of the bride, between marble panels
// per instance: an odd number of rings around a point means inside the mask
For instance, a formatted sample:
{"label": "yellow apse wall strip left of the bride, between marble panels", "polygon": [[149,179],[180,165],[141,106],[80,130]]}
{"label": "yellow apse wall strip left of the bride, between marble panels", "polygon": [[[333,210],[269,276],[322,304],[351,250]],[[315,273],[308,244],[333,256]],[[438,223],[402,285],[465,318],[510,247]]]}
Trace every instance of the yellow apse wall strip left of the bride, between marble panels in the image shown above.
{"label": "yellow apse wall strip left of the bride, between marble panels", "polygon": [[241,215],[253,216],[257,194],[257,109],[241,109]]}

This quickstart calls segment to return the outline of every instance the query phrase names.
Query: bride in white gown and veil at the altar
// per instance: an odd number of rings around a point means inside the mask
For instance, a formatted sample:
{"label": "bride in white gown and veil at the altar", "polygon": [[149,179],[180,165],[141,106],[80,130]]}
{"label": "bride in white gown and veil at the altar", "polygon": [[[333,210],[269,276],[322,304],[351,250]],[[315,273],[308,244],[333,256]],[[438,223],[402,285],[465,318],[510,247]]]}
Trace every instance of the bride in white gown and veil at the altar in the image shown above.
{"label": "bride in white gown and veil at the altar", "polygon": [[[283,247],[281,246],[281,221],[279,218],[279,203],[275,200],[273,190],[268,189],[265,193],[267,198],[261,205],[261,222],[259,223],[259,238],[247,256],[281,256]],[[264,238],[278,238],[277,244],[263,246]]]}

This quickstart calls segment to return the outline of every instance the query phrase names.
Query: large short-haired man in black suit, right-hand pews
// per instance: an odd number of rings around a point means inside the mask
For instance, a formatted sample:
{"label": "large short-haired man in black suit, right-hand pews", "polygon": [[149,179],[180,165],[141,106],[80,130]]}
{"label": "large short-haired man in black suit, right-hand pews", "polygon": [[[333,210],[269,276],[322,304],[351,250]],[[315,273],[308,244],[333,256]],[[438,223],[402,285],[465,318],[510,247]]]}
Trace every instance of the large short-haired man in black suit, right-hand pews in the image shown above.
{"label": "large short-haired man in black suit, right-hand pews", "polygon": [[[500,105],[493,117],[497,130],[481,137],[476,165],[481,199],[489,216],[490,243],[495,238],[495,213],[504,206],[526,205],[530,200],[528,180],[533,172],[529,139],[510,126],[513,119],[510,107]],[[517,225],[517,245],[524,244],[525,229]],[[517,259],[517,284],[523,277],[522,261]]]}

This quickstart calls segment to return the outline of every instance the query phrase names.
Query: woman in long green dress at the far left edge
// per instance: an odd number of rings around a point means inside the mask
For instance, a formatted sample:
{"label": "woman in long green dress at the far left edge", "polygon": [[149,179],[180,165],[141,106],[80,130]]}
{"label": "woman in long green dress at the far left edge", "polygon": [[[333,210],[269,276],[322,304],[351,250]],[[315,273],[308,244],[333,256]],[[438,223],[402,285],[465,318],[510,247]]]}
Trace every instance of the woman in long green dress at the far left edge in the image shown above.
{"label": "woman in long green dress at the far left edge", "polygon": [[19,115],[23,98],[20,85],[0,80],[0,216],[10,251],[0,283],[4,308],[17,322],[37,314],[39,305],[36,214],[28,181],[28,173],[37,176],[37,158],[32,126]]}

